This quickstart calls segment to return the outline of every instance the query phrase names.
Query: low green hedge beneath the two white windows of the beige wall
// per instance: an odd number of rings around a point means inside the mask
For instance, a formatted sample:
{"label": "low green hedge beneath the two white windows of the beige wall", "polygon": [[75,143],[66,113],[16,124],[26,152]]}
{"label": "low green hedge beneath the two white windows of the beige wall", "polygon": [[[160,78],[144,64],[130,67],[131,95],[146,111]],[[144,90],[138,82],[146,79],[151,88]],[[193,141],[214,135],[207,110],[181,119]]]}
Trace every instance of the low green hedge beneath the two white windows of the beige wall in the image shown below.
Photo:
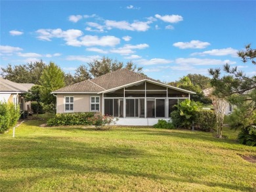
{"label": "low green hedge beneath the two white windows of the beige wall", "polygon": [[48,126],[60,125],[91,125],[89,118],[94,117],[95,113],[57,113],[55,117],[47,121]]}

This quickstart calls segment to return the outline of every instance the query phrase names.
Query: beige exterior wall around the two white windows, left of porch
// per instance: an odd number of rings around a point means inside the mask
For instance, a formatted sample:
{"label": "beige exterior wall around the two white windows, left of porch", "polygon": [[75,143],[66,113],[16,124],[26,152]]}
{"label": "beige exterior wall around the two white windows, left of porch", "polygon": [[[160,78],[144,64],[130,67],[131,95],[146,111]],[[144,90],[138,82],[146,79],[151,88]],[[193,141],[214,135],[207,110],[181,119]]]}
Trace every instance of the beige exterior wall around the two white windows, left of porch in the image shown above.
{"label": "beige exterior wall around the two white windows, left of porch", "polygon": [[91,96],[100,96],[100,113],[102,111],[102,95],[99,94],[57,94],[57,113],[65,113],[65,96],[74,96],[74,112],[89,112]]}

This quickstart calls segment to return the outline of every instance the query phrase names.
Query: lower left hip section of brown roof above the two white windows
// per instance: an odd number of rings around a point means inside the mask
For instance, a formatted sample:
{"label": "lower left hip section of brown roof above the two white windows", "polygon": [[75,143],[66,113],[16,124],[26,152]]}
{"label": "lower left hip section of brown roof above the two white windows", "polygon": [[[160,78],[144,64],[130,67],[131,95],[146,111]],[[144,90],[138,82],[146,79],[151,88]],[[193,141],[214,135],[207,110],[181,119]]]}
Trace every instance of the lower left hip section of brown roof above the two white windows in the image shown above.
{"label": "lower left hip section of brown roof above the two white windows", "polygon": [[81,81],[79,83],[75,83],[73,85],[65,86],[58,90],[54,90],[54,92],[100,92],[104,90],[104,88],[96,85],[91,82],[91,80]]}

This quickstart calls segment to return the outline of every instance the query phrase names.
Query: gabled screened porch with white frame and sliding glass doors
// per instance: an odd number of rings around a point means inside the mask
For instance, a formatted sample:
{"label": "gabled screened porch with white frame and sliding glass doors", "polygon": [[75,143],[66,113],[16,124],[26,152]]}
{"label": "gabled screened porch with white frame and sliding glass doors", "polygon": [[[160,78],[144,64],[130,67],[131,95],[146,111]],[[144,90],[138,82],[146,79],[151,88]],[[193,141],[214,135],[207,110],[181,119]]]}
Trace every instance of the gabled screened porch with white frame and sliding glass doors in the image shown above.
{"label": "gabled screened porch with white frame and sliding glass doors", "polygon": [[189,97],[181,90],[143,81],[102,93],[102,111],[119,118],[167,119],[175,104]]}

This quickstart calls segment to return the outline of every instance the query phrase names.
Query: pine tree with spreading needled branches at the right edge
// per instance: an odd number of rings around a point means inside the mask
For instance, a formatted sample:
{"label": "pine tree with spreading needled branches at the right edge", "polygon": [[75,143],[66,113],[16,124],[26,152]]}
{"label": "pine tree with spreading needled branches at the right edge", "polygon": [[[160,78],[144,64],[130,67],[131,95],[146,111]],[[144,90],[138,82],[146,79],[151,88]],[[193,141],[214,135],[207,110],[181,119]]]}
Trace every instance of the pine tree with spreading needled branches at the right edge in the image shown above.
{"label": "pine tree with spreading needled branches at the right edge", "polygon": [[[246,45],[245,50],[239,51],[238,56],[242,62],[256,65],[256,49]],[[209,69],[213,76],[211,85],[214,88],[213,94],[236,106],[231,114],[233,128],[254,129],[256,125],[256,75],[248,76],[238,67],[224,65],[224,71],[228,75],[221,77],[221,69]],[[255,132],[255,131],[254,131]]]}

